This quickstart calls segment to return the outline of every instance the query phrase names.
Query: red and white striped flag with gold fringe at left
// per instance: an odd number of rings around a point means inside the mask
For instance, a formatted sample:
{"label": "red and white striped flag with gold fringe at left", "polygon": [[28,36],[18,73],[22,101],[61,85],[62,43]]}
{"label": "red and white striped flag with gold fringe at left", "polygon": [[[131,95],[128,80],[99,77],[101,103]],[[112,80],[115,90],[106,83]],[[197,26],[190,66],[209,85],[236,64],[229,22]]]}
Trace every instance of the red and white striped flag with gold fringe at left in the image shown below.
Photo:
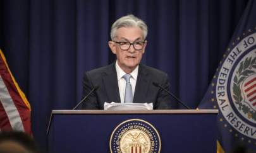
{"label": "red and white striped flag with gold fringe at left", "polygon": [[31,134],[30,104],[9,70],[0,50],[0,130]]}

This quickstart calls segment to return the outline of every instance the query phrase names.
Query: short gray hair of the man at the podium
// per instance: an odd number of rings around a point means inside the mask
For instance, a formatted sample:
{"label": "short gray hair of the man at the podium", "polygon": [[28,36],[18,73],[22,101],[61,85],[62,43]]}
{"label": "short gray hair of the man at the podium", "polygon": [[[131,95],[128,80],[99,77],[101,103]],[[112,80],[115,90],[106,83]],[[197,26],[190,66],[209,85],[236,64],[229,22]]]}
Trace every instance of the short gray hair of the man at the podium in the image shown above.
{"label": "short gray hair of the man at the podium", "polygon": [[119,18],[113,23],[110,32],[111,40],[114,40],[114,38],[116,37],[116,30],[122,27],[139,27],[142,30],[143,39],[147,37],[147,25],[145,24],[145,22],[142,21],[140,18],[137,18],[133,14],[129,14]]}

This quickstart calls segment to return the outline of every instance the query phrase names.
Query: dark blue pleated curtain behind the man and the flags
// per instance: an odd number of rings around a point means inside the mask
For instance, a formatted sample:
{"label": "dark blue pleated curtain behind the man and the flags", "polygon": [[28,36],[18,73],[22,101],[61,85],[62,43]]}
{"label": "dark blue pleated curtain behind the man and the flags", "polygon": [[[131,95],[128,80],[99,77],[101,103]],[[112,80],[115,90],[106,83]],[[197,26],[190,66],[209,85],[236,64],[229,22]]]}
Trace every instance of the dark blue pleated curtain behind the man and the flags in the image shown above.
{"label": "dark blue pleated curtain behind the man and the flags", "polygon": [[35,139],[46,148],[51,110],[73,108],[82,95],[83,72],[114,61],[107,46],[109,31],[126,14],[135,14],[149,26],[143,63],[167,72],[171,91],[196,108],[246,4],[1,0],[0,47],[32,105]]}

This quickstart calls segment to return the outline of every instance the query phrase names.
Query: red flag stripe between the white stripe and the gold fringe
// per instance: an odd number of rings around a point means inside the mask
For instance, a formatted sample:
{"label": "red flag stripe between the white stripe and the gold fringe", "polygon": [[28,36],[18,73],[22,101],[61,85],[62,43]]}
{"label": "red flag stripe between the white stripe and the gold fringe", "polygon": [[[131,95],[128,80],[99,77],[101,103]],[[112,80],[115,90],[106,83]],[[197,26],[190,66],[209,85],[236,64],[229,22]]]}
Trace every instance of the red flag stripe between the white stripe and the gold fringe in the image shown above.
{"label": "red flag stripe between the white stripe and the gold fringe", "polygon": [[0,75],[2,76],[4,84],[6,85],[6,88],[9,91],[9,95],[13,99],[16,109],[20,114],[20,118],[23,123],[25,132],[32,133],[30,122],[30,110],[21,98],[20,94],[18,93],[18,89],[16,88],[13,79],[11,78],[11,74],[9,74],[8,68],[4,63],[3,57],[0,56],[0,58]]}

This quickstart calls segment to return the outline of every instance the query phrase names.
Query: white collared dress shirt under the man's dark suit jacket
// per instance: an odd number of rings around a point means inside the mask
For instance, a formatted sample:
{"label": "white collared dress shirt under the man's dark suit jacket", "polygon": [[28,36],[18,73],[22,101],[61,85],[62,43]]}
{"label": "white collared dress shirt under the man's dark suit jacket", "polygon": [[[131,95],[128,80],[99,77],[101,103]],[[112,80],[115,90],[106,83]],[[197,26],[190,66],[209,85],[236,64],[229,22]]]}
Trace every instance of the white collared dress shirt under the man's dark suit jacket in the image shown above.
{"label": "white collared dress shirt under the man's dark suit jacket", "polygon": [[[126,81],[123,78],[123,76],[126,74],[126,72],[123,71],[121,67],[119,67],[118,61],[116,61],[116,74],[118,75],[118,88],[119,88],[120,100],[121,100],[121,103],[124,103]],[[133,72],[130,73],[130,75],[131,75],[131,78],[130,78],[131,89],[133,90],[133,98],[134,98],[135,86],[136,86],[136,81],[138,76],[138,66],[133,70]]]}

